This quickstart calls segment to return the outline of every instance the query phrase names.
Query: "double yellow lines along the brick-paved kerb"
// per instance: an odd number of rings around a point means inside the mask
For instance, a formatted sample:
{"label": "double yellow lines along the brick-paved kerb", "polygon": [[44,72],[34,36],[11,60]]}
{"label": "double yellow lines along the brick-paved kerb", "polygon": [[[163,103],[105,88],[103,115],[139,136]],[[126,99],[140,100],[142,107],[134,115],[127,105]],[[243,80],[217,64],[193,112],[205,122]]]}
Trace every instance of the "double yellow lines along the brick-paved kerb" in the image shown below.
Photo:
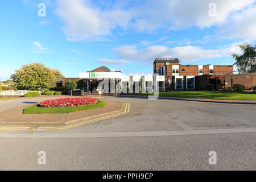
{"label": "double yellow lines along the brick-paved kerb", "polygon": [[96,119],[89,119],[88,121],[83,121],[83,122],[78,122],[78,123],[74,123],[71,125],[67,125],[67,126],[49,126],[49,127],[35,127],[35,129],[31,129],[30,126],[25,127],[25,126],[2,126],[0,127],[0,130],[65,130],[65,129],[69,129],[71,127],[76,127],[76,126],[80,126],[80,125],[85,125],[87,123],[92,123],[95,121],[100,121],[102,119],[108,119],[108,118],[112,118],[118,115],[122,115],[122,114],[126,114],[130,112],[130,104],[129,103],[125,103],[125,110],[121,111],[120,113],[116,113],[116,114],[111,114],[111,115],[106,115],[104,117],[100,117],[100,118],[96,118]]}

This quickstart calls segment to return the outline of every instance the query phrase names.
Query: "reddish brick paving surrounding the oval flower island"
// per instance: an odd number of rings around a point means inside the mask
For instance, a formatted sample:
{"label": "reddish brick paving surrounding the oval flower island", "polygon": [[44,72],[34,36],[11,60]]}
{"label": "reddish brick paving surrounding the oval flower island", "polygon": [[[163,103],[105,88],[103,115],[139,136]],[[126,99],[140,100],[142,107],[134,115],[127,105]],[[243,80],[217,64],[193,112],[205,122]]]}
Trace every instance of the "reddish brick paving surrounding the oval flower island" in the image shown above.
{"label": "reddish brick paving surrounding the oval flower island", "polygon": [[65,113],[65,114],[22,114],[23,109],[28,107],[22,106],[17,107],[15,109],[4,110],[0,112],[0,123],[33,123],[33,122],[52,122],[52,123],[59,123],[63,125],[67,121],[73,121],[75,119],[91,117],[93,115],[110,113],[112,111],[120,110],[122,107],[123,102],[114,102],[108,101],[102,108],[97,109],[89,109],[84,111],[77,111],[74,113]]}

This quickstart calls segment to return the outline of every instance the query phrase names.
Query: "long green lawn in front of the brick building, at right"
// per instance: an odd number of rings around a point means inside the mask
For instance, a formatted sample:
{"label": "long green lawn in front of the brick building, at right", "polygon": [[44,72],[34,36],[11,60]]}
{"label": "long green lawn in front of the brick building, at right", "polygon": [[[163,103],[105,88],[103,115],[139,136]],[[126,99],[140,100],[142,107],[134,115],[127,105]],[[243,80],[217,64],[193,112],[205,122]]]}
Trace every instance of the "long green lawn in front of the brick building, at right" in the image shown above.
{"label": "long green lawn in front of the brick building, at right", "polygon": [[[148,93],[139,95],[147,96]],[[221,92],[221,91],[173,91],[159,92],[159,97],[212,98],[220,100],[256,100],[255,92]]]}

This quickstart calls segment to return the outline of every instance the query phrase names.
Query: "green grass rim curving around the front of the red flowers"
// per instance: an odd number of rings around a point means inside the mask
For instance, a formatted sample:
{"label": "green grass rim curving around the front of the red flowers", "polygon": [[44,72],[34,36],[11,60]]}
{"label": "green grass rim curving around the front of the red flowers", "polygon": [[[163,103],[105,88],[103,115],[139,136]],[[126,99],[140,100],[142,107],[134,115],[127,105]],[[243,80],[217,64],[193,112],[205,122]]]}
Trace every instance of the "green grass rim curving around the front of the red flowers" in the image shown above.
{"label": "green grass rim curving around the front of the red flowers", "polygon": [[81,110],[96,109],[104,107],[108,102],[99,101],[97,104],[74,106],[74,107],[39,107],[38,105],[27,107],[23,110],[23,114],[57,114],[72,113]]}

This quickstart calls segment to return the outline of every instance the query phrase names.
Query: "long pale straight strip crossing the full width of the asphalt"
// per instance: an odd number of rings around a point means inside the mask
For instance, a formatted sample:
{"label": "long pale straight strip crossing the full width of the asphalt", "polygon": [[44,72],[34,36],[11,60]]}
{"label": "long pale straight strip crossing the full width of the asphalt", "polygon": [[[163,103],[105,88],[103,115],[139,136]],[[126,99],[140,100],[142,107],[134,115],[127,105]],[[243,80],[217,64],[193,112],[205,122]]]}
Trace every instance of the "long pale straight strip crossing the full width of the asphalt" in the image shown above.
{"label": "long pale straight strip crossing the full width of the asphalt", "polygon": [[256,133],[256,127],[245,129],[211,129],[183,131],[141,131],[108,133],[2,133],[0,138],[109,138],[109,137],[169,137],[181,135],[212,135],[232,133]]}

